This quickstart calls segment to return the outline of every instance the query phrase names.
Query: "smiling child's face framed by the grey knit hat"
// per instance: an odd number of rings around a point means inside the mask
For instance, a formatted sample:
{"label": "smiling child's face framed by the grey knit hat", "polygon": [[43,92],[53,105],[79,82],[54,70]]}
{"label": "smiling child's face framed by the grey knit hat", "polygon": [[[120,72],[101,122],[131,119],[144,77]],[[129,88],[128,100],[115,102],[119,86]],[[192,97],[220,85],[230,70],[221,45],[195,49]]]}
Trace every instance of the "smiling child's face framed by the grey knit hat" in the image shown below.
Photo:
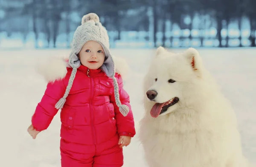
{"label": "smiling child's face framed by the grey knit hat", "polygon": [[102,46],[95,41],[88,41],[79,52],[81,64],[91,70],[100,68],[105,59],[105,53]]}

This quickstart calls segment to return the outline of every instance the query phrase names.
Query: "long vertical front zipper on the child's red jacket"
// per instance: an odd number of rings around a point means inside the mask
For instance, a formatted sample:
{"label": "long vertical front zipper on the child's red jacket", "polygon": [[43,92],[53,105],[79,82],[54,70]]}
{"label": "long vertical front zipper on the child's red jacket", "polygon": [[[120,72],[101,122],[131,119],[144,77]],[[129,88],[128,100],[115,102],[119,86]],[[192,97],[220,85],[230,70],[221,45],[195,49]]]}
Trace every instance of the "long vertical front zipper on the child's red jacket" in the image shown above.
{"label": "long vertical front zipper on the child's red jacket", "polygon": [[93,131],[93,142],[94,142],[94,144],[96,144],[96,133],[95,133],[95,128],[94,128],[94,109],[93,109],[93,102],[92,102],[92,99],[93,99],[93,96],[94,96],[94,80],[93,80],[93,78],[90,77],[89,72],[90,71],[88,69],[87,70],[87,76],[90,78],[90,82],[91,82],[91,86],[92,86],[91,98],[90,98],[90,111],[92,111],[91,125],[92,125],[92,131]]}

